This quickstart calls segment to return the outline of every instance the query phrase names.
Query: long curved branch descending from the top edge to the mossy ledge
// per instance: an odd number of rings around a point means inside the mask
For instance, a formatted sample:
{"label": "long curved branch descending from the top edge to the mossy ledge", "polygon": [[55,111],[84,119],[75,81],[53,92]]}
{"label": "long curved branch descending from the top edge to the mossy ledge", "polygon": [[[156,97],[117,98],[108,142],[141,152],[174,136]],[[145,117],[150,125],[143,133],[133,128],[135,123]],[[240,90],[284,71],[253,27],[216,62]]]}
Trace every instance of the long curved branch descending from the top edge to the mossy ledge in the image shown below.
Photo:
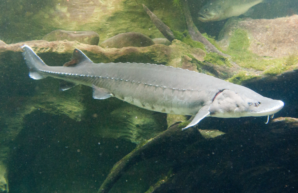
{"label": "long curved branch descending from the top edge to the mossy ledge", "polygon": [[212,43],[210,43],[207,38],[205,38],[198,30],[197,27],[195,27],[195,24],[193,23],[193,19],[191,18],[190,11],[188,9],[187,1],[183,1],[183,8],[184,8],[184,15],[187,23],[188,32],[191,36],[191,38],[194,41],[201,42],[205,45],[206,49],[208,49],[211,52],[218,53],[219,55],[222,55],[224,57],[228,57],[228,55],[222,53],[219,51]]}

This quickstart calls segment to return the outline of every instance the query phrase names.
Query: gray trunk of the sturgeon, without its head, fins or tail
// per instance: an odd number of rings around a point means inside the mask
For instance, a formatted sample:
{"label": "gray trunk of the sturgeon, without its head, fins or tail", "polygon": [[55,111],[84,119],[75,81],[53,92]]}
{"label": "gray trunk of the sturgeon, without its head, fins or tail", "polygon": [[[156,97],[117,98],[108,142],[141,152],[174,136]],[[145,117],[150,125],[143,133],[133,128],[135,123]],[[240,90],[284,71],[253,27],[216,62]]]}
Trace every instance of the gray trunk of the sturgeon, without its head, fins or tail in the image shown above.
{"label": "gray trunk of the sturgeon, without its head, fins or tail", "polygon": [[[181,115],[195,115],[203,105],[209,105],[219,90],[234,85],[206,74],[156,64],[86,63],[45,66],[40,70],[44,76],[94,84],[141,108]],[[215,88],[213,84],[222,86]]]}

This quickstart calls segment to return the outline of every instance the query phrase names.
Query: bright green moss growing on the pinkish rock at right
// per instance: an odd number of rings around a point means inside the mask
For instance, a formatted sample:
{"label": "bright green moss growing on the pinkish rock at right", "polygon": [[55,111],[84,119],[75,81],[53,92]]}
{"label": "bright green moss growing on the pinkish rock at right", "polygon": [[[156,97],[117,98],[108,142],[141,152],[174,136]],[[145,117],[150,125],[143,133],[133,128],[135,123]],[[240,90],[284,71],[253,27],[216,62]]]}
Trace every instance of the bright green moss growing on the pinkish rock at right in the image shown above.
{"label": "bright green moss growing on the pinkish rock at right", "polygon": [[226,53],[231,55],[232,60],[240,67],[243,67],[244,71],[240,71],[233,77],[230,77],[228,79],[229,82],[241,84],[243,81],[252,80],[255,77],[277,75],[298,67],[296,54],[282,58],[262,57],[253,54],[249,50],[249,45],[249,34],[244,29],[236,29],[230,36]]}

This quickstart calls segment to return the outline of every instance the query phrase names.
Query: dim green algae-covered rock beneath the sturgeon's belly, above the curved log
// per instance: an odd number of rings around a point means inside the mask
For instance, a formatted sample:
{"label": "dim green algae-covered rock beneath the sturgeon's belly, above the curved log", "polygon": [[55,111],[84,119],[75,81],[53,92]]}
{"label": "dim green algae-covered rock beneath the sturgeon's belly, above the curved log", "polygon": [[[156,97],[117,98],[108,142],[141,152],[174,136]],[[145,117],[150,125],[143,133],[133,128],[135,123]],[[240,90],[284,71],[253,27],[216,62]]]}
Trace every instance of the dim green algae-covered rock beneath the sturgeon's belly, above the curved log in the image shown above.
{"label": "dim green algae-covered rock beneath the sturgeon's belly, above the curved log", "polygon": [[139,143],[167,129],[167,114],[134,105],[120,106],[109,116],[106,124],[98,130],[100,136],[125,138],[132,143]]}

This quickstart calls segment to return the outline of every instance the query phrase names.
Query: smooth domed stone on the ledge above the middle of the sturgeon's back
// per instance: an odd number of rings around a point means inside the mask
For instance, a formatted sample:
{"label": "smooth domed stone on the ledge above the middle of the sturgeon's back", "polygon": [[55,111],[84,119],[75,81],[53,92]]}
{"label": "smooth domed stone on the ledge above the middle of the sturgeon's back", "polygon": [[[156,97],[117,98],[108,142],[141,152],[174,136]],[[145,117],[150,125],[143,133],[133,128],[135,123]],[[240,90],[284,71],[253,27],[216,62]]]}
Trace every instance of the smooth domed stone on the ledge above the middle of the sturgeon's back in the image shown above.
{"label": "smooth domed stone on the ledge above the middle of the sturgeon's back", "polygon": [[100,46],[103,48],[123,48],[123,47],[146,47],[154,42],[147,36],[139,32],[126,32],[115,35],[103,41]]}

